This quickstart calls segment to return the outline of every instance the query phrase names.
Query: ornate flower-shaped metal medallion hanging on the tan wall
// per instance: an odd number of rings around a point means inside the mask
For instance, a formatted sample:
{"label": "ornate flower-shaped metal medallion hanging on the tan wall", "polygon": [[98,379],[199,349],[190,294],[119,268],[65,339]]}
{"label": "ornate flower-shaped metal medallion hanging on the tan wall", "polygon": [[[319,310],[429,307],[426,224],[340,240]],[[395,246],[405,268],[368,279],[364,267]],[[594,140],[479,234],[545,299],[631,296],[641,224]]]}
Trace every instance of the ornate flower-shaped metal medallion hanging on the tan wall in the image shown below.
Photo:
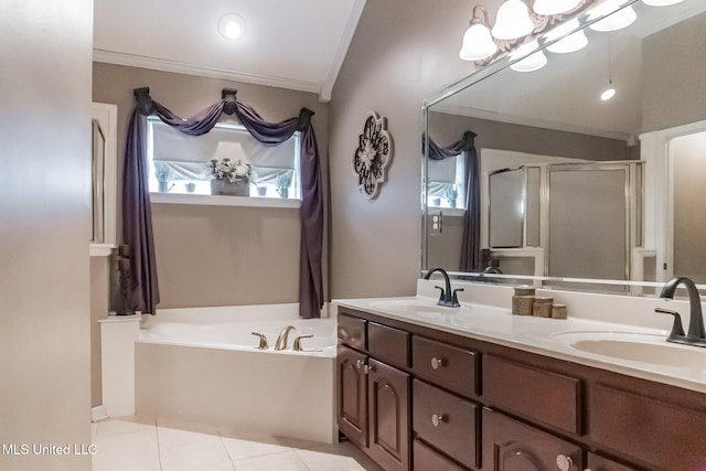
{"label": "ornate flower-shaped metal medallion hanging on the tan wall", "polygon": [[357,149],[353,157],[357,188],[368,199],[377,196],[392,158],[393,139],[387,132],[387,120],[370,111],[363,122],[363,132],[357,136]]}

